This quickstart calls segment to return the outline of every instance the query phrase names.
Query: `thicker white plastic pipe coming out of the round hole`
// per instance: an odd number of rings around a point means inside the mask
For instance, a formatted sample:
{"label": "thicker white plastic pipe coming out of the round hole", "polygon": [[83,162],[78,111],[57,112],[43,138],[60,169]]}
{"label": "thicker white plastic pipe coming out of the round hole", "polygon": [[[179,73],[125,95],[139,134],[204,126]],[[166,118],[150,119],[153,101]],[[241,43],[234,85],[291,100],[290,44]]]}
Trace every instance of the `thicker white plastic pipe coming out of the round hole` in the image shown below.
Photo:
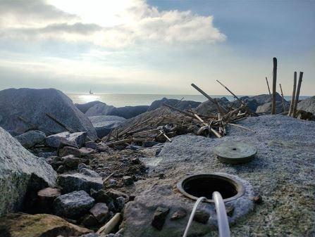
{"label": "thicker white plastic pipe coming out of the round hole", "polygon": [[228,226],[228,215],[221,194],[217,191],[212,193],[212,199],[216,205],[216,218],[218,219],[218,236],[230,237],[230,226]]}

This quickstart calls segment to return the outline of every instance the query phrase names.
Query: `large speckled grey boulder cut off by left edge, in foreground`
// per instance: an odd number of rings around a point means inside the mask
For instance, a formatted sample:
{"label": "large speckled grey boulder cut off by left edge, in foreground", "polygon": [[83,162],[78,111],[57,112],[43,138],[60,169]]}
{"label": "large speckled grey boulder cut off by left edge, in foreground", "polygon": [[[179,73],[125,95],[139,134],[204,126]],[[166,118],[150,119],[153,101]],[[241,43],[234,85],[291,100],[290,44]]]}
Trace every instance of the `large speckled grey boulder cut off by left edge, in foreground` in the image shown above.
{"label": "large speckled grey boulder cut off by left edge, in foreground", "polygon": [[0,127],[0,216],[21,210],[25,195],[56,185],[56,172]]}

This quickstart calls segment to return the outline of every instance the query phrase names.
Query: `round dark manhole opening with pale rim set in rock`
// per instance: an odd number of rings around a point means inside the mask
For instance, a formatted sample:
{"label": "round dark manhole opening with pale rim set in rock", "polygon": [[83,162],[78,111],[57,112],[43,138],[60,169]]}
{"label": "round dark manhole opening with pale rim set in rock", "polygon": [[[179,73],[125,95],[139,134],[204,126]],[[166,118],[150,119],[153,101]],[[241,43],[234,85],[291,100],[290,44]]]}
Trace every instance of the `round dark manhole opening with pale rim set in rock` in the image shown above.
{"label": "round dark manhole opening with pale rim set in rock", "polygon": [[197,200],[200,197],[213,202],[212,193],[221,193],[224,202],[240,198],[245,187],[240,181],[224,174],[195,174],[178,182],[178,190],[187,198]]}

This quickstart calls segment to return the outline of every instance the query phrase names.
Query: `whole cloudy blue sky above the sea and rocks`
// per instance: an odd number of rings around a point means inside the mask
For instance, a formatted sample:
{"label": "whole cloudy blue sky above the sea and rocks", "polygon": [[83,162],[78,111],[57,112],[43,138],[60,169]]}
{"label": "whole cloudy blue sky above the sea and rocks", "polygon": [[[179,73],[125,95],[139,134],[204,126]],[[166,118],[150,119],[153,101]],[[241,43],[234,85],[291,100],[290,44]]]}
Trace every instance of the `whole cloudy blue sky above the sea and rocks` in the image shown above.
{"label": "whole cloudy blue sky above the sea and rocks", "polygon": [[0,89],[266,94],[273,57],[314,95],[314,0],[0,0]]}

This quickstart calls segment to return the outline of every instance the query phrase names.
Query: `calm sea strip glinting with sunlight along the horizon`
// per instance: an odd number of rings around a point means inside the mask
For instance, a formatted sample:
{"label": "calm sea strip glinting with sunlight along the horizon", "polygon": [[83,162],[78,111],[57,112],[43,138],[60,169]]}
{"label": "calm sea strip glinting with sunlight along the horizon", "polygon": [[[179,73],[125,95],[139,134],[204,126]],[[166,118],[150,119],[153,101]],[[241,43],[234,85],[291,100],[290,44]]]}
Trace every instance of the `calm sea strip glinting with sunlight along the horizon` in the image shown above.
{"label": "calm sea strip glinting with sunlight along the horizon", "polygon": [[[107,105],[115,107],[135,106],[135,105],[151,105],[153,101],[161,100],[161,98],[176,98],[185,101],[199,101],[204,102],[207,99],[202,95],[163,95],[163,94],[89,94],[89,93],[70,93],[67,94],[73,103],[87,103],[91,101],[101,101]],[[233,96],[230,95],[210,95],[212,98],[226,97],[229,101],[233,101]],[[239,96],[241,97],[241,96]],[[309,96],[299,96],[299,99],[305,99]],[[291,100],[291,96],[284,96],[286,101]]]}

